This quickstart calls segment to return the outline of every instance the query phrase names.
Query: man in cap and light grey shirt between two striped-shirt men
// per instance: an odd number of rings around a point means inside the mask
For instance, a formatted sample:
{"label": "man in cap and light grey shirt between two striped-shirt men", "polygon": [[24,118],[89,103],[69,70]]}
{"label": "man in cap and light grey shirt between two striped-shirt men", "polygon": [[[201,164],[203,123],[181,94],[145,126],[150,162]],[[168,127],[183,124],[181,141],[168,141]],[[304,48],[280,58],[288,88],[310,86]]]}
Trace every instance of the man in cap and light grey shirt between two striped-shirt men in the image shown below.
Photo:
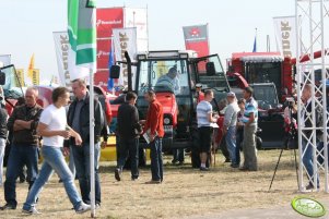
{"label": "man in cap and light grey shirt between two striped-shirt men", "polygon": [[230,153],[231,158],[231,167],[232,168],[238,168],[238,163],[236,160],[236,138],[235,138],[235,132],[236,132],[236,118],[237,112],[239,111],[239,108],[236,104],[235,94],[233,92],[230,92],[227,94],[227,101],[228,106],[225,110],[224,114],[224,125],[223,125],[223,132],[225,134],[225,141],[227,145],[227,149]]}

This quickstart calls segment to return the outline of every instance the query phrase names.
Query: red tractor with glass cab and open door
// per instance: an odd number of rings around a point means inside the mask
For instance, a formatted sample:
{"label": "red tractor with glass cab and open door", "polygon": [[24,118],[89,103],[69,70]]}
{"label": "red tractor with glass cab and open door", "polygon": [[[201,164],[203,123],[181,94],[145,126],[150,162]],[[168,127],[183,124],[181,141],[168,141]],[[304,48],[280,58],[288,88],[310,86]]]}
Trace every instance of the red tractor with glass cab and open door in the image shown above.
{"label": "red tractor with glass cab and open door", "polygon": [[[197,58],[193,51],[164,50],[138,53],[136,63],[131,63],[128,53],[126,53],[126,59],[128,90],[133,90],[139,96],[137,107],[140,119],[145,119],[149,107],[143,94],[152,88],[164,109],[164,149],[192,148],[197,136],[196,84],[202,84],[203,89],[214,89],[215,98],[212,104],[216,111],[221,110],[218,102],[226,98],[226,93],[230,92],[230,85],[219,57],[213,54]],[[131,80],[131,64],[137,66],[134,82]],[[166,74],[171,68],[177,70],[179,92],[175,90],[171,83],[158,83],[161,76]],[[111,69],[110,76],[113,78],[119,76],[117,65]],[[146,147],[146,144],[140,141],[140,146]],[[198,154],[193,156],[199,157]],[[192,159],[192,165],[197,167],[198,165],[193,162],[195,159]]]}

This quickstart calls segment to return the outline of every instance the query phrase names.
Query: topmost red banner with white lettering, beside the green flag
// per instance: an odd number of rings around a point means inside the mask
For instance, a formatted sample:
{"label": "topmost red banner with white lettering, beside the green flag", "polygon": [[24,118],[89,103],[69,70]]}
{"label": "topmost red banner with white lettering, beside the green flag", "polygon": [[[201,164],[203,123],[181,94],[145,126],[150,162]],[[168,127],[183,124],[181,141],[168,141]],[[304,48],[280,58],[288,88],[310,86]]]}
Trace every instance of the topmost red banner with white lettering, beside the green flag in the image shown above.
{"label": "topmost red banner with white lettering, beside the green flag", "polygon": [[124,8],[97,9],[97,38],[111,37],[111,29],[124,27]]}

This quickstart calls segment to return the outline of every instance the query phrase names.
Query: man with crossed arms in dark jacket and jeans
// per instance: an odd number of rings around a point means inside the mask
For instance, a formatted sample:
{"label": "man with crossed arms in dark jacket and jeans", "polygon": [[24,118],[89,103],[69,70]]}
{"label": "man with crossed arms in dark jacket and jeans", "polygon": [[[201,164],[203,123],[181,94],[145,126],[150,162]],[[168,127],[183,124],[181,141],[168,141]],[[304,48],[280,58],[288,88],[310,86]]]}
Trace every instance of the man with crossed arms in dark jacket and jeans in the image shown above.
{"label": "man with crossed arms in dark jacket and jeans", "polygon": [[30,175],[28,188],[32,187],[37,173],[37,147],[38,136],[36,126],[38,124],[42,107],[36,104],[38,89],[28,87],[25,92],[25,105],[14,109],[8,120],[7,126],[13,131],[13,143],[7,165],[4,182],[4,199],[7,204],[0,209],[16,209],[16,179],[24,165],[27,167]]}

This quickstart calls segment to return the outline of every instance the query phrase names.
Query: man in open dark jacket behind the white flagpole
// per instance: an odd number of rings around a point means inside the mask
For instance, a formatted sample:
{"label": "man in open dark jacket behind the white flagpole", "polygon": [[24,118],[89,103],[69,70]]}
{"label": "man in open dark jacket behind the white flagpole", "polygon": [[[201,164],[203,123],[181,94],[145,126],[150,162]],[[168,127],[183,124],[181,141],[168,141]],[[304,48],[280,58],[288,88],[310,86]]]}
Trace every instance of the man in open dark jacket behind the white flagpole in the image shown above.
{"label": "man in open dark jacket behind the white flagpole", "polygon": [[[70,141],[79,179],[82,200],[91,203],[90,192],[90,96],[86,84],[83,80],[72,82],[72,92],[75,96],[74,101],[70,105],[68,111],[68,125],[71,126],[82,137],[82,147],[77,146],[74,141]],[[101,206],[101,182],[98,177],[98,162],[101,157],[101,135],[104,142],[107,142],[105,113],[102,105],[94,99],[94,136],[95,136],[95,199],[96,207]],[[104,143],[103,143],[104,144]]]}

